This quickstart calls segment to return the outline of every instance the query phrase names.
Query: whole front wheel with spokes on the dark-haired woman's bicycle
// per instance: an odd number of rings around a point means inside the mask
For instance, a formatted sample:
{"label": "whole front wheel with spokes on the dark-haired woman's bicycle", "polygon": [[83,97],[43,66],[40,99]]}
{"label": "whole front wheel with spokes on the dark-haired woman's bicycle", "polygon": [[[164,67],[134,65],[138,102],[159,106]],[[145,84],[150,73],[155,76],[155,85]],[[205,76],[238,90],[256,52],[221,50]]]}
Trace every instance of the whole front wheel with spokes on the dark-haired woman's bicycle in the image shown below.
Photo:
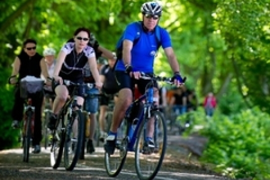
{"label": "whole front wheel with spokes on the dark-haired woman's bicycle", "polygon": [[80,155],[82,144],[82,130],[84,128],[84,118],[80,110],[76,110],[67,118],[66,136],[64,141],[64,167],[66,170],[73,170]]}

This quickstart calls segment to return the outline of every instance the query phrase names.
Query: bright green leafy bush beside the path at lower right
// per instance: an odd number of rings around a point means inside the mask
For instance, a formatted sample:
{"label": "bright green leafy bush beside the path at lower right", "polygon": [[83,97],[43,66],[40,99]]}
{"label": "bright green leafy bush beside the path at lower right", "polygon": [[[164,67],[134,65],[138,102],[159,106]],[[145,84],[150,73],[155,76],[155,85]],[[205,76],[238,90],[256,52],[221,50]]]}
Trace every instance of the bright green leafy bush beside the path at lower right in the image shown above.
{"label": "bright green leafy bush beside the path at lower right", "polygon": [[208,119],[201,133],[209,137],[201,160],[234,178],[269,179],[270,116],[258,108]]}

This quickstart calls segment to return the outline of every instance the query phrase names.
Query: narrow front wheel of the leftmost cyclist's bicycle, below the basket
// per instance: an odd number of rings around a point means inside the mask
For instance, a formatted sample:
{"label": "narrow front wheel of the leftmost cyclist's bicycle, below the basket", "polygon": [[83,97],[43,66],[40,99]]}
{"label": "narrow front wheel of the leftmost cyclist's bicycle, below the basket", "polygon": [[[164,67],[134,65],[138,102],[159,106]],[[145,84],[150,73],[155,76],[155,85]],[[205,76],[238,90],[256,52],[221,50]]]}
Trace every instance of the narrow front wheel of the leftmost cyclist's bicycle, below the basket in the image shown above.
{"label": "narrow front wheel of the leftmost cyclist's bicycle, below the basket", "polygon": [[29,161],[29,150],[30,150],[30,139],[31,139],[31,118],[32,112],[27,111],[27,122],[26,122],[26,129],[23,136],[23,161]]}

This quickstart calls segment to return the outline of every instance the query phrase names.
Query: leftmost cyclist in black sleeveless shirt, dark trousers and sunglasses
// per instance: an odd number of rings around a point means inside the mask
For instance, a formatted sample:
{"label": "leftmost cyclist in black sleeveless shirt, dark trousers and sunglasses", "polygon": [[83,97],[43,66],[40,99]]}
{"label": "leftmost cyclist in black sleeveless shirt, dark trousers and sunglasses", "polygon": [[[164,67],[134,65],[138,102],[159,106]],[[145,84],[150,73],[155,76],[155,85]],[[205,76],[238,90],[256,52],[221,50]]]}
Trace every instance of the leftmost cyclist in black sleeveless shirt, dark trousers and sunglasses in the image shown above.
{"label": "leftmost cyclist in black sleeveless shirt, dark trousers and sunglasses", "polygon": [[[31,65],[29,65],[31,64]],[[40,74],[45,79],[49,77],[45,59],[36,52],[36,40],[26,39],[23,42],[23,48],[13,62],[13,69],[9,83],[15,84],[20,79],[27,75],[40,78]],[[18,76],[18,78],[17,78]],[[18,81],[17,81],[18,80]],[[23,117],[23,102],[24,99],[20,97],[19,84],[15,88],[15,99],[12,108],[12,127],[18,128]],[[41,92],[32,94],[32,105],[35,107],[34,116],[34,132],[32,137],[33,153],[40,152],[41,141],[41,104],[43,101],[43,94]]]}

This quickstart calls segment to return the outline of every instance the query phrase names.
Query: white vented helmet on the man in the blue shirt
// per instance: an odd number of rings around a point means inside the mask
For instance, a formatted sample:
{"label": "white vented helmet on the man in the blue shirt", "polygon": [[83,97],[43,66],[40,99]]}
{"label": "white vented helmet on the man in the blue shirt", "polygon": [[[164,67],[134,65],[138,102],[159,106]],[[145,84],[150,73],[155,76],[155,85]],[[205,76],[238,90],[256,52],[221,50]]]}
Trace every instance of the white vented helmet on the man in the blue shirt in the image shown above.
{"label": "white vented helmet on the man in the blue shirt", "polygon": [[159,3],[155,1],[144,2],[141,7],[140,11],[143,14],[152,14],[161,16],[162,7]]}

